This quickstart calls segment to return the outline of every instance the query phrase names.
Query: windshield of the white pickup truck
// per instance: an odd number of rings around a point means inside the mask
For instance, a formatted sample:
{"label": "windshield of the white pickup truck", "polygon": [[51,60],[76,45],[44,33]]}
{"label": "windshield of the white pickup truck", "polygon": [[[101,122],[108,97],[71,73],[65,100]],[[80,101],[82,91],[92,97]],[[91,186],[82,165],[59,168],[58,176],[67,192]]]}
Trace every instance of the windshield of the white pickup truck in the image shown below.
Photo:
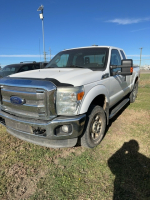
{"label": "windshield of the white pickup truck", "polygon": [[90,68],[104,70],[108,58],[108,48],[80,48],[59,52],[46,68]]}

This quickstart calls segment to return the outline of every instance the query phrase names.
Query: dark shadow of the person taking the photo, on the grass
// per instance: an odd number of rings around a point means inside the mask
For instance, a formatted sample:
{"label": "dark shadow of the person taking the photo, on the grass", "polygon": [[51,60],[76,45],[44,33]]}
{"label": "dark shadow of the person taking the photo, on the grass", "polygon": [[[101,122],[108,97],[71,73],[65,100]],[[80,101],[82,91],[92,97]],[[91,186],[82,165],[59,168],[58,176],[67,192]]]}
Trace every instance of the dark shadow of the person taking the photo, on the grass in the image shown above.
{"label": "dark shadow of the person taking the photo, on the grass", "polygon": [[150,199],[150,159],[138,151],[138,142],[130,140],[108,159],[115,175],[113,200]]}

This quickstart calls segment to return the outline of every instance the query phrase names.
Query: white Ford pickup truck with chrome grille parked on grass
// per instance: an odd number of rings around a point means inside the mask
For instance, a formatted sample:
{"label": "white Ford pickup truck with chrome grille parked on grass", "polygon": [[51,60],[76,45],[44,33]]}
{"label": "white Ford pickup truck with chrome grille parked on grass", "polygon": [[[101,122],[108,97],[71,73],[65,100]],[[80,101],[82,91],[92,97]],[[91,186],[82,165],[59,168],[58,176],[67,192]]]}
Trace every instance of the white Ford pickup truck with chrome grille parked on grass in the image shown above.
{"label": "white Ford pickup truck with chrome grille parked on grass", "polygon": [[0,79],[0,123],[34,144],[93,148],[109,119],[135,101],[138,82],[139,67],[120,48],[64,50],[45,69]]}

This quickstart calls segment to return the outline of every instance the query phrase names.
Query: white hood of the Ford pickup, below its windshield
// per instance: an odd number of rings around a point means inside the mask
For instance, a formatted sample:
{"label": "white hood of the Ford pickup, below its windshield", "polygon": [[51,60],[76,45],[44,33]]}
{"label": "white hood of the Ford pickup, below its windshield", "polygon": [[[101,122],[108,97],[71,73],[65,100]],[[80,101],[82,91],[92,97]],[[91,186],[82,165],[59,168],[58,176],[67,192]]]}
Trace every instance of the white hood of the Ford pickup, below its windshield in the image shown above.
{"label": "white hood of the Ford pickup, below its windshield", "polygon": [[53,78],[61,83],[68,83],[74,86],[81,86],[100,80],[103,73],[104,72],[102,71],[92,71],[90,69],[81,68],[45,68],[17,73],[10,75],[9,77],[37,79]]}

